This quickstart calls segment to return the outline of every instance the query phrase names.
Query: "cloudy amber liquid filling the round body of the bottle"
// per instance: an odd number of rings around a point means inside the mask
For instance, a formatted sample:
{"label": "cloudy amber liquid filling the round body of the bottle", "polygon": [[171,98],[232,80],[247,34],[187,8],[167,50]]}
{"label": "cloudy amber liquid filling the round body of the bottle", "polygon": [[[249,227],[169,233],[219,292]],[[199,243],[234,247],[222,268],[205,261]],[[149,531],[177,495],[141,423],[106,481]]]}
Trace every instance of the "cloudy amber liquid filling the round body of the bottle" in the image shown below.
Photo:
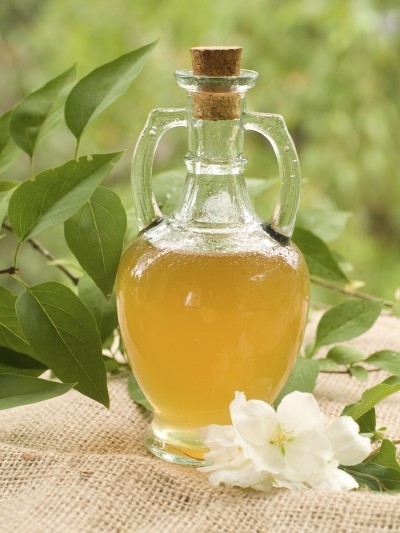
{"label": "cloudy amber liquid filling the round body of the bottle", "polygon": [[277,396],[302,340],[309,281],[296,250],[290,260],[274,250],[201,255],[139,239],[125,252],[119,322],[156,431],[190,445],[196,428],[230,422],[235,391]]}

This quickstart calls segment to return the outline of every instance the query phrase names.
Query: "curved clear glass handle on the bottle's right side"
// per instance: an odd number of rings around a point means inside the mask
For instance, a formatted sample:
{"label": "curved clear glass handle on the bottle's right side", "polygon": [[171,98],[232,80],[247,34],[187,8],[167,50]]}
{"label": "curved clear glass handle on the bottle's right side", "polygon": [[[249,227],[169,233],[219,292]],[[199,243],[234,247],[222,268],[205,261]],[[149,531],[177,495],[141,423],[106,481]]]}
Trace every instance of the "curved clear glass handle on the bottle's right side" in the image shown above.
{"label": "curved clear glass handle on the bottle's right side", "polygon": [[245,111],[243,122],[246,130],[257,131],[269,140],[278,160],[280,199],[265,229],[276,240],[286,243],[293,234],[300,200],[301,174],[296,148],[280,115]]}

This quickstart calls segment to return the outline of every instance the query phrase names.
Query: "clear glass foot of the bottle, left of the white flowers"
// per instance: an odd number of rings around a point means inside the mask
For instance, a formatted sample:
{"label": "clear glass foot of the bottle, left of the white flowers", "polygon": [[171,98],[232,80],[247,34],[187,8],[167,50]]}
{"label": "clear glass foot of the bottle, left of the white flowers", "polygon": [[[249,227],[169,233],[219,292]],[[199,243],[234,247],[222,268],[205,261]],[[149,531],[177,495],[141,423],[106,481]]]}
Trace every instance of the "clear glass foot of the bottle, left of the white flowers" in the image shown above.
{"label": "clear glass foot of the bottle, left of the white flowers", "polygon": [[203,459],[207,448],[191,447],[171,438],[166,438],[159,431],[155,431],[152,426],[146,430],[144,444],[153,455],[170,463],[185,466],[209,466],[213,464],[212,461]]}

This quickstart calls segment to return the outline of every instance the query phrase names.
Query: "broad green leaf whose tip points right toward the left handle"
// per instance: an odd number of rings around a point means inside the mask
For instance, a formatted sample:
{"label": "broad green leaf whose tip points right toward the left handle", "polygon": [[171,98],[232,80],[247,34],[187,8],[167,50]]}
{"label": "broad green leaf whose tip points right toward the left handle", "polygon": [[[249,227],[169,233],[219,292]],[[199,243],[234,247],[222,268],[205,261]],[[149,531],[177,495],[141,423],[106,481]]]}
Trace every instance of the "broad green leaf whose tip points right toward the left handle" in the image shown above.
{"label": "broad green leaf whose tip points right toward the left handle", "polygon": [[93,194],[122,152],[73,159],[27,180],[10,199],[8,218],[19,241],[70,218]]}

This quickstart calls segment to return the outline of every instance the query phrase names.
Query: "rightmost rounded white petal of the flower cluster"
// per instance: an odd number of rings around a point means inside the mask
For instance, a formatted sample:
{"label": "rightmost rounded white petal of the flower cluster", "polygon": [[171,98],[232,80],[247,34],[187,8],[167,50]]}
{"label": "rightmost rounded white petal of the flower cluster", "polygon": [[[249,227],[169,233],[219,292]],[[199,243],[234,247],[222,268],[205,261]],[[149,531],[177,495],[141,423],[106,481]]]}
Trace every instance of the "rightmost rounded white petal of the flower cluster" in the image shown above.
{"label": "rightmost rounded white petal of the flower cluster", "polygon": [[350,416],[341,416],[327,429],[333,456],[341,465],[361,463],[372,451],[371,441],[359,435],[360,428]]}

